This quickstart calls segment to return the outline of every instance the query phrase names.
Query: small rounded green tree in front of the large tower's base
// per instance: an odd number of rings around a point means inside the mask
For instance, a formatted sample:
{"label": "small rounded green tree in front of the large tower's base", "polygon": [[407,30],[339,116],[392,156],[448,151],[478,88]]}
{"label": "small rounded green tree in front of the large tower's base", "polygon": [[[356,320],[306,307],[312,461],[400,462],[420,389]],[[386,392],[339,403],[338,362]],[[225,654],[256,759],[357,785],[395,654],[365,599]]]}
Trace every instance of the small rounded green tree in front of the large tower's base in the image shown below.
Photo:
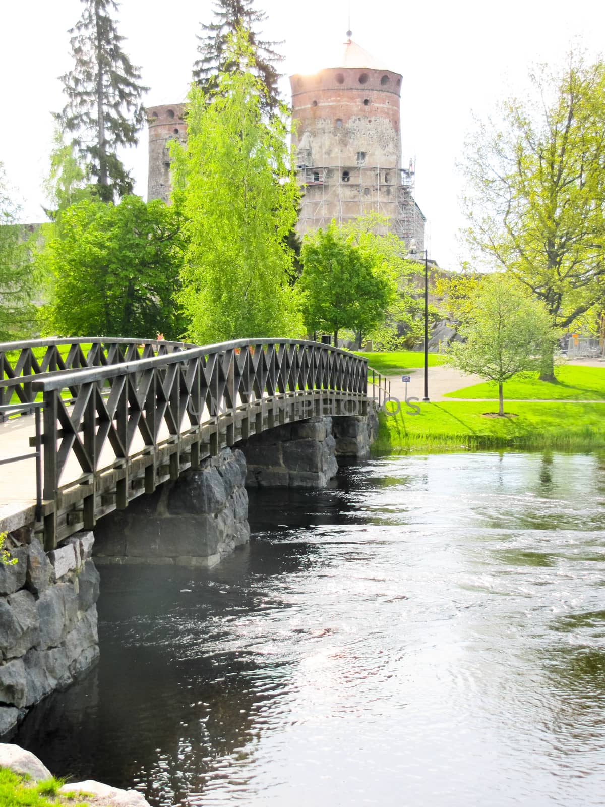
{"label": "small rounded green tree in front of the large tower's base", "polygon": [[334,333],[341,328],[360,334],[375,328],[394,297],[395,283],[382,255],[368,243],[355,243],[355,233],[336,222],[303,239],[301,260],[303,316],[311,331]]}

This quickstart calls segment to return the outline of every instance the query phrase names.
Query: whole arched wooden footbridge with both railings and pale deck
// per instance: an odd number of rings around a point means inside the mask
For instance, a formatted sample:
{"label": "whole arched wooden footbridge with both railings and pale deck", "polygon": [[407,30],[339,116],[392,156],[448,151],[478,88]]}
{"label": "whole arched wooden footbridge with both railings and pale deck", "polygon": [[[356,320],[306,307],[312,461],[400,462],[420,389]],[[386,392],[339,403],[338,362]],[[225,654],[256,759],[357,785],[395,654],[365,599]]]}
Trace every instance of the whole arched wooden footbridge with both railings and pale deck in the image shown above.
{"label": "whole arched wooden footbridge with both railings and pale deck", "polygon": [[224,446],[365,414],[367,378],[365,358],[310,341],[0,344],[0,531],[35,522],[52,550]]}

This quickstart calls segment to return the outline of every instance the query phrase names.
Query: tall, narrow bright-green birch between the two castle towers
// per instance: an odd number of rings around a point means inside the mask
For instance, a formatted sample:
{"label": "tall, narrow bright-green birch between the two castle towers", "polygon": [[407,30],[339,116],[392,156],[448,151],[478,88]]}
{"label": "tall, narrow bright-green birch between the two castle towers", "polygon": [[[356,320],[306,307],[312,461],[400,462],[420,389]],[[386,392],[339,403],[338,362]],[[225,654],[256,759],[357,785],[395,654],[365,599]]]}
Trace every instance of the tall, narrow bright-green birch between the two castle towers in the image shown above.
{"label": "tall, narrow bright-green birch between the two castle towers", "polygon": [[[229,45],[245,66],[253,53],[240,35]],[[265,86],[246,69],[221,73],[219,94],[192,86],[187,145],[172,144],[174,199],[186,220],[188,248],[181,300],[190,337],[209,344],[302,332],[286,238],[298,186],[286,125],[261,114]]]}

